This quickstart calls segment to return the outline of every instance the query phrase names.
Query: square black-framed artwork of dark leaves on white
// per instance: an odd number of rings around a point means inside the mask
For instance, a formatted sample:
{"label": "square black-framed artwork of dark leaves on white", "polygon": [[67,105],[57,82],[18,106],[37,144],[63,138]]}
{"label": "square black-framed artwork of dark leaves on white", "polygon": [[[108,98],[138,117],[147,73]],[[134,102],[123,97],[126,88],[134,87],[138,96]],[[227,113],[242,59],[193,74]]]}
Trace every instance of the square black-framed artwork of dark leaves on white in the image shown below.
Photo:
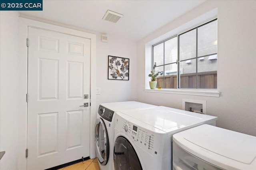
{"label": "square black-framed artwork of dark leaves on white", "polygon": [[108,80],[129,80],[129,59],[109,55]]}

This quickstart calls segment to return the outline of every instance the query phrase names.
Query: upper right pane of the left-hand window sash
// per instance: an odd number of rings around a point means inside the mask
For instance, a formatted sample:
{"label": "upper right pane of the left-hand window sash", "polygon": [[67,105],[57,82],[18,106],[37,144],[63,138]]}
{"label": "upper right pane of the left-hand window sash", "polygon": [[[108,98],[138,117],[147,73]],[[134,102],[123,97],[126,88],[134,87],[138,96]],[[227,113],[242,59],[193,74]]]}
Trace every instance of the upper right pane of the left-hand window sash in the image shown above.
{"label": "upper right pane of the left-hand window sash", "polygon": [[177,37],[164,42],[164,64],[177,61]]}

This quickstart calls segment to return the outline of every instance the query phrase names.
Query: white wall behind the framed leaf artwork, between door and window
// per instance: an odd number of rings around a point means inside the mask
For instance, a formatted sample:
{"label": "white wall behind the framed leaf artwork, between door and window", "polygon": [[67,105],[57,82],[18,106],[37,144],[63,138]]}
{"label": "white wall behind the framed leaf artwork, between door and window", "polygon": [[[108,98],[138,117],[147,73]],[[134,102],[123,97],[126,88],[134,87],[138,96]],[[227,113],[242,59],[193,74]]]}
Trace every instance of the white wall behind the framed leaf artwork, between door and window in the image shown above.
{"label": "white wall behind the framed leaf artwork, between door and window", "polygon": [[[97,40],[97,87],[101,89],[100,95],[97,95],[97,106],[100,103],[136,100],[136,42],[109,35],[108,43],[103,43],[100,34],[97,34]],[[128,81],[108,80],[108,55],[130,59]]]}

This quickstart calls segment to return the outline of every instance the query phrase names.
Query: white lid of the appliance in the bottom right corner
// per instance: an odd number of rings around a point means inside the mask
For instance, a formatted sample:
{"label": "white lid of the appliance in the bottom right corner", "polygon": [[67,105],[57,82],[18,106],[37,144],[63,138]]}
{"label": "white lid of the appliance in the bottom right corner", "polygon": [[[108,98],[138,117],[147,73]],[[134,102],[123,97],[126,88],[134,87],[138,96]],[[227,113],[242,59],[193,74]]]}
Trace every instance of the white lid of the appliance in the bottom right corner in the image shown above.
{"label": "white lid of the appliance in the bottom right corner", "polygon": [[[188,148],[189,152],[210,151],[209,157],[224,164],[239,167],[240,164],[256,166],[256,137],[222,129],[211,125],[200,125],[173,135],[173,140]],[[206,158],[207,159],[207,158]],[[232,160],[229,161],[228,159]],[[214,162],[211,162],[214,163]],[[216,162],[215,162],[216,163]]]}

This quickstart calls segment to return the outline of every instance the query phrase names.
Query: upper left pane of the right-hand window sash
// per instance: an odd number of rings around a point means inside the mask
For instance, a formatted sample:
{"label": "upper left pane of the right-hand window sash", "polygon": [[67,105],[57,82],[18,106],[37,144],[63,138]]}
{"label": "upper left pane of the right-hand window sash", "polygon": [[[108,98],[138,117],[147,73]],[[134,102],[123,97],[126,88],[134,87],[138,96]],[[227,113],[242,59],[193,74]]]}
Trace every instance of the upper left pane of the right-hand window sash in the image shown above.
{"label": "upper left pane of the right-hand window sash", "polygon": [[179,36],[180,61],[196,57],[196,29]]}

